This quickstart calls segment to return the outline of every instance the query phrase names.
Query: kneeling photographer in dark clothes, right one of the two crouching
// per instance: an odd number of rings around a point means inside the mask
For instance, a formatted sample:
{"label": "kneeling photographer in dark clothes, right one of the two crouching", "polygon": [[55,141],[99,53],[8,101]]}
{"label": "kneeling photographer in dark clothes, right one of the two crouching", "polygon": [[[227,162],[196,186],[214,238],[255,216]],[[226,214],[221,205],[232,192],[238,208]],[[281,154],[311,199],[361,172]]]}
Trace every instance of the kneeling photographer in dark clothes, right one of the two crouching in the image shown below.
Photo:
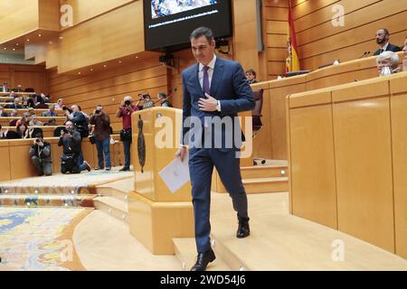
{"label": "kneeling photographer in dark clothes, right one of the two crouching", "polygon": [[80,173],[88,170],[90,165],[86,161],[80,163],[80,133],[73,129],[73,124],[69,120],[65,123],[65,128],[61,131],[61,137],[58,146],[63,146],[63,154],[61,156],[61,172],[62,173]]}

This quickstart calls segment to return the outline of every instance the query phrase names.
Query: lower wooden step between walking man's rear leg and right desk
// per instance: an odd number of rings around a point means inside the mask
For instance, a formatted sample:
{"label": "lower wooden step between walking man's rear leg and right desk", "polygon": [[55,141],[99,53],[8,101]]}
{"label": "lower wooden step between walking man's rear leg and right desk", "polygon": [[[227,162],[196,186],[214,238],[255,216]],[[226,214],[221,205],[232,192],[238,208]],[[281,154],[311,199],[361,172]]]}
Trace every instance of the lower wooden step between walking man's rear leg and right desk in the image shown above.
{"label": "lower wooden step between walking man's rear leg and right desk", "polygon": [[243,179],[242,182],[247,193],[289,191],[288,177]]}

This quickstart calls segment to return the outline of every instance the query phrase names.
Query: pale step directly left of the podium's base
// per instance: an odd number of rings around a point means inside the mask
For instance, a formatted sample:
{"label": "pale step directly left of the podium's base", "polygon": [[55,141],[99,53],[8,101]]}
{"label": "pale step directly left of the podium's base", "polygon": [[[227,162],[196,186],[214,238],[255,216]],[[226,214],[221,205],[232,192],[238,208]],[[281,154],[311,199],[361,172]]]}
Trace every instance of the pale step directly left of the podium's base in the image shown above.
{"label": "pale step directly left of the podium's base", "polygon": [[111,196],[101,196],[93,199],[95,208],[107,213],[109,216],[114,217],[128,224],[128,202],[125,200],[118,200],[118,198]]}

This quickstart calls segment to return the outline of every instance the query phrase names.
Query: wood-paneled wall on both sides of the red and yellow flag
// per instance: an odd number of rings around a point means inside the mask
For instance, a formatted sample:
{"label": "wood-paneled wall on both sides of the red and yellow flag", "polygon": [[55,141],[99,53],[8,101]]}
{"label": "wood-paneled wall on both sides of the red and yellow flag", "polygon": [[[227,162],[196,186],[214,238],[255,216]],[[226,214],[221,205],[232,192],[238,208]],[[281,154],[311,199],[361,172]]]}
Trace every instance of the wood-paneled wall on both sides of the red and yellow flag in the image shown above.
{"label": "wood-paneled wall on both sides of the red and yellow flag", "polygon": [[[345,25],[335,26],[334,5],[345,9]],[[268,78],[284,74],[287,58],[288,0],[266,0]],[[316,70],[319,65],[339,59],[351,61],[364,51],[378,49],[374,35],[387,28],[390,42],[402,45],[407,35],[406,2],[400,0],[297,0],[293,14],[301,69]]]}

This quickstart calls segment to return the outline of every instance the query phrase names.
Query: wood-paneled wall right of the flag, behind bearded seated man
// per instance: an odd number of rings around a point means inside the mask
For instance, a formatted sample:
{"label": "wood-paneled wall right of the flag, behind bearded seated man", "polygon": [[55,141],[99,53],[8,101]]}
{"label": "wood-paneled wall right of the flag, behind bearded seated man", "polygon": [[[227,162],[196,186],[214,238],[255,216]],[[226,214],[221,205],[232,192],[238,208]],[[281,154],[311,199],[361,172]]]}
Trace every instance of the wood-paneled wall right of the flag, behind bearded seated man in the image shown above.
{"label": "wood-paneled wall right of the flag, behind bearded seated man", "polygon": [[[345,9],[344,26],[332,23],[334,5]],[[390,42],[399,46],[407,35],[405,1],[306,0],[298,3],[293,12],[302,69],[315,70],[335,59],[355,60],[364,51],[373,55],[379,48],[374,36],[380,28],[387,28]]]}

